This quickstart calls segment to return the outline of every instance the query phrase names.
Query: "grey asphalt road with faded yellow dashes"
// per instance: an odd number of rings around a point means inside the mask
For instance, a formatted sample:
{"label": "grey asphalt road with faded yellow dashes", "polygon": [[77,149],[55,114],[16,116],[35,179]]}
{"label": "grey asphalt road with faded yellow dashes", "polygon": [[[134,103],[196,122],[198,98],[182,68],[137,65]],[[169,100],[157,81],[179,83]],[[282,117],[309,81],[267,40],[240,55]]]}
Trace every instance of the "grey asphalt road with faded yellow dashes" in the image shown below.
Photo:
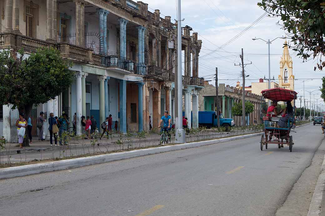
{"label": "grey asphalt road with faded yellow dashes", "polygon": [[0,180],[0,215],[275,215],[322,140],[296,131],[292,152],[253,137]]}

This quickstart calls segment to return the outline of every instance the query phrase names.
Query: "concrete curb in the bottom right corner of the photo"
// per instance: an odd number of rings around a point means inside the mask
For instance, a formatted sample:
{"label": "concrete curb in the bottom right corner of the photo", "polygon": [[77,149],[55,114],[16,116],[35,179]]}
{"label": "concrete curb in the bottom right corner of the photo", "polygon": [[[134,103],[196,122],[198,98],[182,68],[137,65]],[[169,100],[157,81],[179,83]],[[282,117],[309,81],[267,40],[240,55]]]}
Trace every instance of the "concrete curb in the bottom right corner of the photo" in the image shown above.
{"label": "concrete curb in the bottom right corner of the photo", "polygon": [[321,167],[321,173],[318,176],[313,198],[311,199],[307,216],[319,216],[323,200],[323,191],[325,189],[325,155]]}

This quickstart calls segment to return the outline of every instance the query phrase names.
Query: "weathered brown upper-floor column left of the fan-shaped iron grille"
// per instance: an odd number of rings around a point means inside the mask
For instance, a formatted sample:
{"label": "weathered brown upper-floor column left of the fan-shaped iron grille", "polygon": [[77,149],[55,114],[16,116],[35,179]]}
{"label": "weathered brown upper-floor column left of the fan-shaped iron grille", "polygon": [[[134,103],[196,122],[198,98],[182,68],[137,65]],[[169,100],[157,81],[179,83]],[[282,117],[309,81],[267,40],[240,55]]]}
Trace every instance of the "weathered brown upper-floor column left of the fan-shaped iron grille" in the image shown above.
{"label": "weathered brown upper-floor column left of the fan-shaped iron grille", "polygon": [[85,3],[75,0],[76,7],[76,45],[85,46]]}

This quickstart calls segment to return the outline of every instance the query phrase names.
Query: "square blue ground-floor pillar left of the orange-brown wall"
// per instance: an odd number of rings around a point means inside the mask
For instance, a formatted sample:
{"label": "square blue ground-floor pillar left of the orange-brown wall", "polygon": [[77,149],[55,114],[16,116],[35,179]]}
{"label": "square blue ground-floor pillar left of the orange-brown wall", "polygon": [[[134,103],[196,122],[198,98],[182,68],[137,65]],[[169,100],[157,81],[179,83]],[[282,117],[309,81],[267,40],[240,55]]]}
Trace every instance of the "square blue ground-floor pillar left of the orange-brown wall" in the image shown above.
{"label": "square blue ground-floor pillar left of the orange-brown wall", "polygon": [[120,131],[126,133],[126,81],[120,80]]}

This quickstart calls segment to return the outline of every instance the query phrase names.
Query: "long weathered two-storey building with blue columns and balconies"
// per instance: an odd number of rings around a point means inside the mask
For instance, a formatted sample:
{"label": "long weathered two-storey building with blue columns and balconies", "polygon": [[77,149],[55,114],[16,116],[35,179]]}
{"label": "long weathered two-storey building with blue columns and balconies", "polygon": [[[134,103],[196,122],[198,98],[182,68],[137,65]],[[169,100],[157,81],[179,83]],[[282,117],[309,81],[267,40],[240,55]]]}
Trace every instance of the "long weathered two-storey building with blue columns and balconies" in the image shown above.
{"label": "long weathered two-storey building with blue columns and balconies", "polygon": [[[40,111],[56,116],[64,111],[70,118],[77,113],[78,134],[81,115],[94,115],[99,125],[111,114],[123,133],[149,130],[149,116],[157,127],[164,110],[174,120],[177,23],[170,16],[162,18],[159,10],[151,13],[148,4],[132,0],[0,2],[1,49],[14,53],[23,48],[28,56],[36,48],[52,46],[73,62],[74,83],[55,100],[35,104],[34,126]],[[185,115],[190,118],[192,111],[193,127],[198,127],[201,40],[189,29],[182,29],[183,94]],[[16,142],[17,132],[10,128],[18,111],[3,106],[3,116],[0,135],[3,128],[3,135]]]}

